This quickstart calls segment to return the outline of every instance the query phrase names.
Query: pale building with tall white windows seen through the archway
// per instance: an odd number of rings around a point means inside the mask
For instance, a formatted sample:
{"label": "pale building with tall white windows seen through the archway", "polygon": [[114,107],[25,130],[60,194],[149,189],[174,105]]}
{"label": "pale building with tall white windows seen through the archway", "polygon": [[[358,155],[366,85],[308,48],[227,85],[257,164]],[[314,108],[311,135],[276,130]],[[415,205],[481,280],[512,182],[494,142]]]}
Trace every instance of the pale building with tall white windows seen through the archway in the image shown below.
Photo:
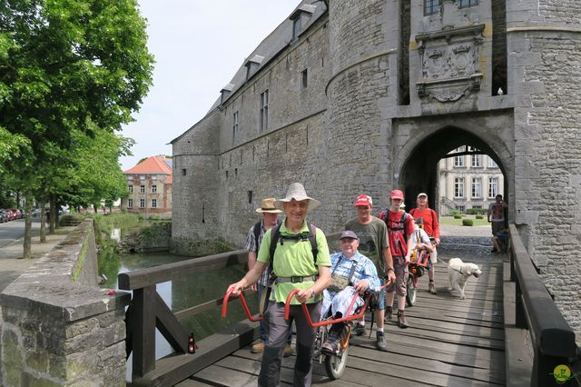
{"label": "pale building with tall white windows seen through the archway", "polygon": [[504,177],[498,164],[478,149],[460,146],[438,163],[440,215],[453,210],[487,211],[495,196],[504,194]]}

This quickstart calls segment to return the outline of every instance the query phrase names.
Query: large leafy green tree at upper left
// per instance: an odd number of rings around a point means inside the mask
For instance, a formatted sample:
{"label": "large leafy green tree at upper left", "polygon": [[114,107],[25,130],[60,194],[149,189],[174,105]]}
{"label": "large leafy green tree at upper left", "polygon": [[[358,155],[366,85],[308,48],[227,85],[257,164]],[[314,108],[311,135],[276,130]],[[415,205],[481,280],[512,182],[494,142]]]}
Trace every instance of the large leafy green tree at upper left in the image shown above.
{"label": "large leafy green tree at upper left", "polygon": [[152,83],[146,40],[137,0],[0,2],[0,170],[11,189],[43,194],[58,176],[43,173],[70,165],[77,133],[132,121]]}

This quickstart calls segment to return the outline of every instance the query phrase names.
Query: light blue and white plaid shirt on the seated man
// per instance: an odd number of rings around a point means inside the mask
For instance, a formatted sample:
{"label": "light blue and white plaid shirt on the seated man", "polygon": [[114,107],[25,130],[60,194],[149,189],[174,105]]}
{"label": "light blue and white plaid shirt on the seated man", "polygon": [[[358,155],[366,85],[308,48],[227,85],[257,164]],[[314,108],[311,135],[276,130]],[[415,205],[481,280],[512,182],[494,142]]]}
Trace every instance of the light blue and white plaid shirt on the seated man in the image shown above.
{"label": "light blue and white plaid shirt on the seated man", "polygon": [[351,266],[355,263],[357,263],[357,268],[350,278],[350,282],[355,284],[359,280],[365,280],[370,291],[379,292],[381,283],[379,283],[378,271],[371,260],[359,252],[355,253],[351,258],[346,258],[343,253],[332,254],[330,256],[331,273],[349,277]]}

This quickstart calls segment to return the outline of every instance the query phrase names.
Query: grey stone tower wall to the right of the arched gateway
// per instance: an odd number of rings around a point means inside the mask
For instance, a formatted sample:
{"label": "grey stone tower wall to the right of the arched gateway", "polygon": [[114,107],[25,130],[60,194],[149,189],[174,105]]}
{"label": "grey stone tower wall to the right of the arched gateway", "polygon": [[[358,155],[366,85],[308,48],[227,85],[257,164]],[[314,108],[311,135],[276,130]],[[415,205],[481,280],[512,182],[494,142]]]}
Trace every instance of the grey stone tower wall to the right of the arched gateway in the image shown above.
{"label": "grey stone tower wall to the right of the arched gateway", "polygon": [[507,5],[515,223],[549,293],[581,336],[581,262],[573,253],[581,241],[581,148],[574,145],[581,144],[581,4],[531,3],[522,12]]}

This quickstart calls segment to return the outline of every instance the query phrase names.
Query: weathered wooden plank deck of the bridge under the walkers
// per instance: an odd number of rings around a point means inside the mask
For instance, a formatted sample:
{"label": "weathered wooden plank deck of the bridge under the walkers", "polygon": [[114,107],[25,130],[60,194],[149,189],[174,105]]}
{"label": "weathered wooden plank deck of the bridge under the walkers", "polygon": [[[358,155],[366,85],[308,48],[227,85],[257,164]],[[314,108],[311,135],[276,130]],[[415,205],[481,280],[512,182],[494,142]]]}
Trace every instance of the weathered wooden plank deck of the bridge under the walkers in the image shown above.
{"label": "weathered wooden plank deck of the bridge under the walkers", "polygon": [[[505,385],[502,257],[462,259],[478,263],[484,272],[468,280],[466,300],[448,291],[446,264],[438,263],[438,294],[428,293],[427,274],[420,279],[417,303],[406,309],[410,327],[386,324],[388,352],[375,349],[375,332],[370,339],[353,337],[341,379],[330,381],[324,365],[315,362],[313,385]],[[283,359],[281,384],[292,383],[294,361],[294,356]],[[178,385],[255,386],[260,366],[261,354],[242,348]]]}

